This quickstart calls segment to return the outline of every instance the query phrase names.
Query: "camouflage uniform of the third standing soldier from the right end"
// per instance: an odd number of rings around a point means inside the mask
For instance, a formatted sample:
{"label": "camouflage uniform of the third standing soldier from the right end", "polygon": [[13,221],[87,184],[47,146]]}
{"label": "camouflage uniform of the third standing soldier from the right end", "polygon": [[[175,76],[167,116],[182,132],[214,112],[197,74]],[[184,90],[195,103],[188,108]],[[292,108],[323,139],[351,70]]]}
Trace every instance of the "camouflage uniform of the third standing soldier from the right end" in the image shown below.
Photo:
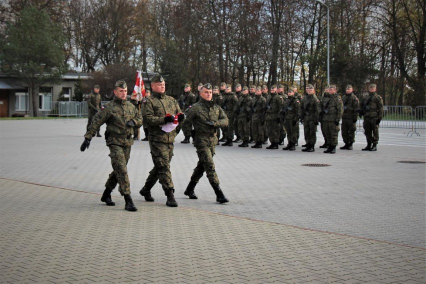
{"label": "camouflage uniform of the third standing soldier from the right end", "polygon": [[335,152],[338,132],[340,131],[340,118],[343,113],[343,104],[337,93],[329,94],[323,101],[322,123],[324,125],[325,136],[327,137],[328,148],[325,153]]}

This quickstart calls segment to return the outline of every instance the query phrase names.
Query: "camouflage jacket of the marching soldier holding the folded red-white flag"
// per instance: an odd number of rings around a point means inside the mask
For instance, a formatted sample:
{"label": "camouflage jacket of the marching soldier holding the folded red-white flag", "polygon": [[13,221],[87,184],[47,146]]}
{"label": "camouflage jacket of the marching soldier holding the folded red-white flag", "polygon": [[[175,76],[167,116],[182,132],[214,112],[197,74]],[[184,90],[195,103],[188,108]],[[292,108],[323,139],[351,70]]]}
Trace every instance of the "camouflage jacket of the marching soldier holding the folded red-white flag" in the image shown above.
{"label": "camouflage jacket of the marching soldier holding the folded red-white flag", "polygon": [[176,129],[167,133],[161,130],[161,126],[165,124],[164,116],[166,114],[176,115],[181,112],[177,101],[164,93],[152,91],[151,95],[143,101],[143,104],[143,125],[148,128],[149,141],[173,143]]}

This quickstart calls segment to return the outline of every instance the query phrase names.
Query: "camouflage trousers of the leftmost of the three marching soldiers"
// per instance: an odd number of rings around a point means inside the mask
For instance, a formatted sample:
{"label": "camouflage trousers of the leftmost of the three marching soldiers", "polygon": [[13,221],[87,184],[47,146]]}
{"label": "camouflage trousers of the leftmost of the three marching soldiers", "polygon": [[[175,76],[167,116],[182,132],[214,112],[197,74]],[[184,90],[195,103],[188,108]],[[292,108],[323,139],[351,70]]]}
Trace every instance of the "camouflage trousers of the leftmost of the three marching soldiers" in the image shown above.
{"label": "camouflage trousers of the leftmost of the three marching soldiers", "polygon": [[113,171],[106,180],[105,188],[112,191],[118,183],[118,192],[121,195],[130,194],[130,181],[127,175],[127,162],[130,157],[131,146],[109,146],[109,157]]}

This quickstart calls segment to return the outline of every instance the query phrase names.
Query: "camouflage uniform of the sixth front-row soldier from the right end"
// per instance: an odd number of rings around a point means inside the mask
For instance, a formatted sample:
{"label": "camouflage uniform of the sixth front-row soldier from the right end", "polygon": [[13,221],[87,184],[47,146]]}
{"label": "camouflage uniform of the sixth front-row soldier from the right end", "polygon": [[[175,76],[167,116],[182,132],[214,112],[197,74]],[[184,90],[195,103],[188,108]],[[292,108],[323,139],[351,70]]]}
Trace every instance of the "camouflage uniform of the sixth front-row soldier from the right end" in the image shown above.
{"label": "camouflage uniform of the sixth front-row soldier from the right end", "polygon": [[[284,104],[284,98],[275,93],[271,93],[266,98],[265,103],[265,122],[266,122],[266,132],[267,136],[271,142],[270,146],[278,147],[279,141],[279,132],[281,125],[281,118],[279,111]],[[276,144],[276,145],[275,145]],[[269,148],[269,147],[266,147]]]}

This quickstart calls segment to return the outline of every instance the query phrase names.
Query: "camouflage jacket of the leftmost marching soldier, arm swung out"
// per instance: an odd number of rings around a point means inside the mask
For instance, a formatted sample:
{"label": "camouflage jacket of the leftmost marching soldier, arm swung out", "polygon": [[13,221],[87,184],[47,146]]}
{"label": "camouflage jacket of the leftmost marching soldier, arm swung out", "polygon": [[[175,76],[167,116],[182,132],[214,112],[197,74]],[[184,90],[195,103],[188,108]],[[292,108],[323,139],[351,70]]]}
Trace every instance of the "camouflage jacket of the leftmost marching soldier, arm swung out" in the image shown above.
{"label": "camouflage jacket of the leftmost marching soldier, arm swung out", "polygon": [[130,119],[134,121],[134,127],[142,125],[142,117],[136,107],[130,102],[114,96],[113,100],[93,117],[84,137],[91,139],[100,125],[106,123],[105,140],[107,146],[130,146],[133,144],[131,137],[133,127],[126,125],[126,122]]}

